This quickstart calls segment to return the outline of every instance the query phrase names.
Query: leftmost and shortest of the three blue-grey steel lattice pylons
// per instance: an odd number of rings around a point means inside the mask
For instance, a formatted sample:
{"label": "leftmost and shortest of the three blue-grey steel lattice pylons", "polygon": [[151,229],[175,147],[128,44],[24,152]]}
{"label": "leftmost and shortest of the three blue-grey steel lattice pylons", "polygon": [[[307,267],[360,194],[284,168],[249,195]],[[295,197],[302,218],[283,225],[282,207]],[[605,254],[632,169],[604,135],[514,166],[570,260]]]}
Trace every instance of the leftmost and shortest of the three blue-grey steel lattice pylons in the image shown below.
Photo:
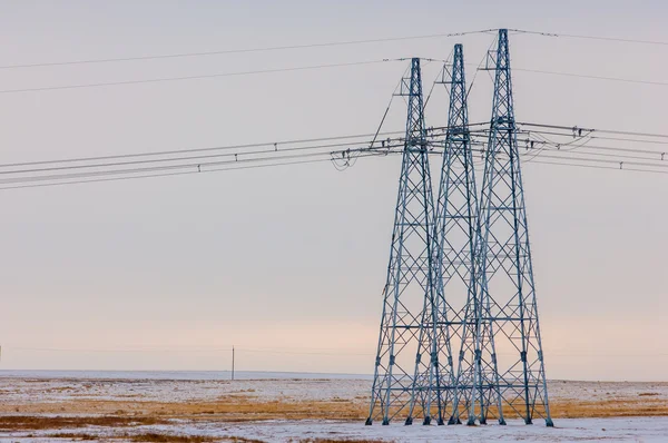
{"label": "leftmost and shortest of the three blue-grey steel lattice pylons", "polygon": [[416,374],[430,373],[431,337],[436,328],[434,209],[420,59],[411,60],[411,76],[402,79],[400,93],[407,99],[406,132],[366,424],[377,417],[390,424],[397,415],[406,416],[405,423],[411,424],[415,412],[424,412],[429,386]]}

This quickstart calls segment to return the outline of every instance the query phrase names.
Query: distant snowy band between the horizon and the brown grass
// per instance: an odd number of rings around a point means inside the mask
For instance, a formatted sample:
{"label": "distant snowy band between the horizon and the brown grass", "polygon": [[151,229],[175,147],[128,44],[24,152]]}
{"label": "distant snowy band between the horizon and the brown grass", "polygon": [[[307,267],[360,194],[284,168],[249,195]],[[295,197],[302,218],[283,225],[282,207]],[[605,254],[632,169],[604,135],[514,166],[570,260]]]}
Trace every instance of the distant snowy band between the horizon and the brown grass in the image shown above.
{"label": "distant snowy band between the horizon and the brown grass", "polygon": [[[243,395],[261,401],[327,401],[332,398],[365,400],[371,378],[327,377],[294,373],[256,373],[256,380],[193,378],[189,373],[161,373],[163,377],[144,377],[145,373],[95,373],[96,376],[50,377],[49,373],[0,372],[1,402],[62,402],[71,400],[130,400],[155,402],[215,401],[223,396]],[[135,374],[131,378],[129,375]],[[165,374],[174,375],[166,378]],[[252,374],[252,373],[250,373]],[[316,376],[318,375],[318,376]],[[248,375],[247,375],[248,376]],[[628,400],[668,401],[666,382],[573,382],[550,381],[549,394],[559,400]]]}

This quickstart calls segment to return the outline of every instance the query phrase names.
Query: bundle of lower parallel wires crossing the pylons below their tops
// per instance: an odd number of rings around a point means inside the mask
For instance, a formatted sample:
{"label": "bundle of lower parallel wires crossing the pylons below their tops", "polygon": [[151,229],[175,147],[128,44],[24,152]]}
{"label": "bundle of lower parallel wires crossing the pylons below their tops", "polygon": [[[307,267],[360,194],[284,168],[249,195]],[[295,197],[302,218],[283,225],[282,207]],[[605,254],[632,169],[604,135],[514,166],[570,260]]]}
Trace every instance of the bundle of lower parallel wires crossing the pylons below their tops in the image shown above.
{"label": "bundle of lower parallel wires crossing the pylons below their tops", "polygon": [[[483,124],[473,124],[471,126],[479,127],[481,125]],[[549,132],[553,132],[558,136],[563,137],[568,136],[569,134],[572,136],[576,131],[579,131],[578,127],[566,127],[542,124],[521,125],[538,128],[552,127],[551,130],[549,130]],[[445,129],[446,128],[430,128],[428,139],[431,154],[442,152],[442,136],[445,132]],[[554,130],[568,131],[568,134],[559,134],[554,132]],[[549,140],[544,137],[542,139],[537,139],[536,137],[542,137],[542,129],[520,132],[527,134],[528,137],[525,140],[520,140],[520,142],[527,142],[527,149],[521,155],[522,157],[529,158],[525,161],[533,161],[536,158],[541,157],[543,159],[557,160],[562,163],[568,161],[570,164],[572,164],[573,161],[584,165],[591,164],[610,166],[615,164],[619,165],[620,168],[626,167],[627,170],[630,170],[630,168],[632,167],[638,171],[645,171],[646,169],[649,171],[655,170],[657,168],[661,169],[668,167],[668,163],[664,161],[664,152],[613,146],[588,145],[591,134],[593,134],[595,131],[605,134],[607,130],[584,128],[582,130],[586,130],[587,132],[583,136],[574,138],[574,140],[568,142],[557,142]],[[395,135],[397,132],[399,131],[385,131],[379,134]],[[477,151],[480,151],[483,156],[485,152],[487,134],[488,130],[484,128],[473,129],[471,132],[471,145],[479,146],[480,150],[477,149]],[[641,140],[638,137],[648,136],[666,137],[665,135],[657,134],[648,135],[642,132],[630,131],[627,131],[626,134],[636,136],[633,140]],[[118,156],[68,158],[63,160],[43,160],[32,163],[6,164],[0,165],[0,176],[7,177],[4,179],[0,179],[0,189],[52,186],[57,184],[111,181],[130,178],[164,177],[170,175],[197,174],[213,170],[269,167],[332,160],[335,161],[335,166],[337,165],[336,161],[340,161],[342,164],[341,168],[346,168],[353,166],[354,161],[358,157],[399,154],[400,150],[403,148],[402,138],[387,138],[384,140],[369,140],[363,138],[369,136],[370,135],[353,135],[282,141],[282,145],[288,145],[288,147],[282,147],[282,149],[277,148],[277,144],[262,142],[236,146],[233,145],[216,148],[171,150],[163,152],[140,152],[125,154]],[[360,139],[355,140],[355,138]],[[332,140],[334,142],[299,146],[301,144],[315,140]],[[630,140],[631,139],[625,139],[623,141],[630,142]],[[577,145],[576,141],[578,142]],[[269,149],[253,149],[256,147],[268,147]],[[274,149],[272,149],[272,147]],[[227,151],[228,149],[237,149],[237,151]],[[171,152],[183,155],[184,152],[194,152],[202,150],[225,151],[202,156],[144,158],[144,156],[164,156],[165,154],[171,155]],[[618,154],[619,151],[639,155],[620,155]],[[647,155],[652,155],[656,157],[650,158],[647,157]],[[128,157],[132,159],[127,160]],[[139,159],[137,159],[137,157]],[[214,160],[215,158],[223,159]],[[104,161],[100,159],[114,161]],[[22,169],[11,169],[17,167],[22,167]]]}

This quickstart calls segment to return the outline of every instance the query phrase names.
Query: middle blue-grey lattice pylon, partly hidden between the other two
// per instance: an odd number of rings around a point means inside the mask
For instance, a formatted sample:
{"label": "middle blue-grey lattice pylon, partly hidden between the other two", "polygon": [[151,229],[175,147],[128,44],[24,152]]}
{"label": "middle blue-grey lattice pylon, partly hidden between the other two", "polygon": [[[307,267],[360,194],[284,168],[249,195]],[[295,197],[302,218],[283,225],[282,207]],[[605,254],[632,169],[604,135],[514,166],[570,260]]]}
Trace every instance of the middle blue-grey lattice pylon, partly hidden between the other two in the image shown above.
{"label": "middle blue-grey lattice pylon, partly hidden between the other two", "polygon": [[461,45],[455,45],[452,67],[444,67],[441,82],[450,85],[450,108],[434,222],[438,329],[432,344],[432,388],[425,406],[431,412],[435,405],[438,424],[443,424],[444,419],[449,423],[459,421],[455,410],[460,393],[452,346],[460,347],[466,306],[475,298],[478,197]]}

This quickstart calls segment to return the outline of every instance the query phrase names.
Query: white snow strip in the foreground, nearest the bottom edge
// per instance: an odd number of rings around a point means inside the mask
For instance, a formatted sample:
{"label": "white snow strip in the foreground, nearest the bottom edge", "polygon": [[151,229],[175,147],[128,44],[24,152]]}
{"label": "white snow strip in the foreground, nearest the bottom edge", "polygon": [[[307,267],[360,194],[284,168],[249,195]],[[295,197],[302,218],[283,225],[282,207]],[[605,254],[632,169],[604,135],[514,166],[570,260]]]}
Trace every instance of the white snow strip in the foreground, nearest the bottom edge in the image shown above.
{"label": "white snow strip in the foreground, nearest the bottom edge", "polygon": [[[62,441],[49,437],[52,431],[0,433],[0,442]],[[59,430],[59,434],[98,435],[100,440],[111,432],[100,427]],[[138,426],[128,435],[158,433],[161,435],[200,435],[214,441],[248,439],[262,442],[301,442],[330,440],[372,440],[386,442],[667,442],[668,417],[637,419],[563,419],[553,429],[541,424],[525,426],[510,421],[507,426],[364,426],[362,423],[316,421],[267,421],[258,423],[184,422],[173,425]],[[118,441],[118,440],[114,440]]]}

